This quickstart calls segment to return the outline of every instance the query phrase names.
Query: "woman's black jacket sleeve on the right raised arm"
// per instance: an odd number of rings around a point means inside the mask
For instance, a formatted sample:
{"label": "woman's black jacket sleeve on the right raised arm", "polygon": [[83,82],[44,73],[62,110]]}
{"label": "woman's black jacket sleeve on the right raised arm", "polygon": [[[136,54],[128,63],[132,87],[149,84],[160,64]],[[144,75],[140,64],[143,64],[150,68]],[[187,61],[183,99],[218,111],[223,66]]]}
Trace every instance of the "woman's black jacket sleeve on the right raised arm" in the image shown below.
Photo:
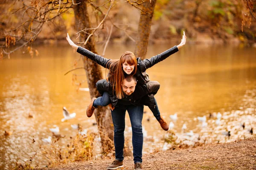
{"label": "woman's black jacket sleeve on the right raised arm", "polygon": [[143,62],[145,63],[146,69],[151,68],[153,65],[157,64],[160,61],[163,61],[164,59],[166,59],[170,55],[176,53],[177,51],[179,51],[179,50],[178,50],[177,46],[175,45],[174,47],[164,51],[161,54],[151,57],[150,59],[144,59]]}

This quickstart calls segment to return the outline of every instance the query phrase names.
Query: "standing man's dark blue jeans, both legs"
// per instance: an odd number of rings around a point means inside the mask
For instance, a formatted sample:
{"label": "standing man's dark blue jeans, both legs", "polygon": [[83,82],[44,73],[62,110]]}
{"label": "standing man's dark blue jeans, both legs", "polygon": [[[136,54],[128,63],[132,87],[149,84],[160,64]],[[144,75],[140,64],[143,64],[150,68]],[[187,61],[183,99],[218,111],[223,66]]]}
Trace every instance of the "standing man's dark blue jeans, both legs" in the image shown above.
{"label": "standing man's dark blue jeans, both legs", "polygon": [[142,133],[142,118],[143,105],[119,105],[113,111],[112,120],[114,124],[114,144],[116,150],[116,159],[122,161],[124,159],[123,149],[125,144],[125,112],[128,111],[131,128],[132,128],[132,146],[134,164],[142,162],[142,147],[143,147],[143,133]]}

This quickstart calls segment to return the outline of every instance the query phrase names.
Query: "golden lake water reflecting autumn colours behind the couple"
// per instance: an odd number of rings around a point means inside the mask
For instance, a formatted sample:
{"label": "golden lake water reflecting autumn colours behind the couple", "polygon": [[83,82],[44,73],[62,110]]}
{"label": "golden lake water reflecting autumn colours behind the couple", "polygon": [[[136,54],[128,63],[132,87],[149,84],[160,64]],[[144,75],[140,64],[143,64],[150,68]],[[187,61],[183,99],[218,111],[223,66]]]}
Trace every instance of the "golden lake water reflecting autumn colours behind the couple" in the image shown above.
{"label": "golden lake water reflecting autumn colours behind the couple", "polygon": [[[151,45],[147,58],[160,54],[173,45]],[[95,117],[87,118],[86,108],[90,102],[87,91],[77,90],[73,74],[81,87],[87,88],[83,69],[64,74],[76,67],[82,67],[79,54],[68,45],[41,45],[35,47],[39,55],[18,51],[10,59],[0,63],[0,169],[7,169],[16,161],[29,160],[41,138],[51,136],[49,128],[57,125],[64,145],[76,130],[70,125],[80,123],[84,128],[93,126]],[[102,47],[99,45],[99,54]],[[134,51],[134,46],[109,45],[105,57],[117,59],[124,51]],[[102,68],[105,75],[105,68]],[[151,80],[160,82],[155,95],[160,112],[168,122],[173,122],[174,132],[182,136],[193,130],[207,142],[230,142],[250,137],[247,132],[256,129],[256,48],[227,45],[186,45],[179,52],[147,70]],[[61,122],[62,108],[76,112],[75,119]],[[161,130],[148,107],[143,117],[146,130],[143,153],[161,150],[166,132]],[[209,113],[222,114],[221,125],[216,118],[209,119]],[[28,114],[33,118],[29,118]],[[177,121],[169,115],[177,113]],[[207,127],[202,127],[198,116],[207,116]],[[128,118],[128,117],[127,117]],[[149,121],[148,121],[149,120]],[[241,123],[245,123],[245,130]],[[187,129],[182,130],[183,124]],[[130,140],[129,119],[126,119],[125,135]],[[4,136],[4,130],[12,133]],[[230,138],[222,133],[230,131]],[[255,133],[255,132],[254,132]],[[153,137],[152,137],[153,136]],[[184,136],[183,136],[184,137]],[[153,140],[152,140],[153,138]],[[36,142],[32,143],[32,139]],[[147,140],[149,139],[149,140]],[[152,142],[153,141],[153,142]],[[35,164],[47,163],[40,155]]]}

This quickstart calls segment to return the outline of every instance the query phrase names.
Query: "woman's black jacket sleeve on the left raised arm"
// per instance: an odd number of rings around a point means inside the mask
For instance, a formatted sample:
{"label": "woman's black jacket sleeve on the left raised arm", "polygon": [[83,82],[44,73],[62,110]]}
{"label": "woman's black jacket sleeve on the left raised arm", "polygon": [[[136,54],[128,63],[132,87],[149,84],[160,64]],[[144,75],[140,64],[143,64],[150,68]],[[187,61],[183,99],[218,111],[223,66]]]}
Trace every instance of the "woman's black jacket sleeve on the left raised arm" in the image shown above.
{"label": "woman's black jacket sleeve on the left raised arm", "polygon": [[85,49],[85,48],[82,48],[82,47],[78,47],[77,48],[77,51],[79,54],[82,54],[83,56],[93,60],[94,62],[98,63],[99,65],[101,65],[102,67],[104,68],[108,68],[108,65],[107,65],[107,62],[111,59],[107,59],[107,58],[104,58],[102,56],[99,56],[97,54],[94,54],[93,52]]}

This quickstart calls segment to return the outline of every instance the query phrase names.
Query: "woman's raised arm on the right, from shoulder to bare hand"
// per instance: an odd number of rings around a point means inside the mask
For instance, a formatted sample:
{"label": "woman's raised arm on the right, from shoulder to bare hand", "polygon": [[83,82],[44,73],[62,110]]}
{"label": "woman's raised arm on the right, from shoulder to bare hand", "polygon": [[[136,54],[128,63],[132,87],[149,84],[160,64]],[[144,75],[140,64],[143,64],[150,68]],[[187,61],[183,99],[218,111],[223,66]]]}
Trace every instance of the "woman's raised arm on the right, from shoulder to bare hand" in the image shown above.
{"label": "woman's raised arm on the right, from shoulder to bare hand", "polygon": [[163,61],[164,59],[166,59],[167,57],[169,57],[170,55],[176,53],[177,51],[179,51],[180,48],[182,48],[184,45],[186,44],[186,35],[185,32],[183,31],[183,36],[182,36],[182,40],[180,42],[179,45],[175,45],[174,47],[164,51],[161,54],[158,54],[154,57],[151,57],[150,59],[144,59],[143,62],[145,63],[145,67],[147,68],[151,68],[153,65],[157,64],[160,61]]}

